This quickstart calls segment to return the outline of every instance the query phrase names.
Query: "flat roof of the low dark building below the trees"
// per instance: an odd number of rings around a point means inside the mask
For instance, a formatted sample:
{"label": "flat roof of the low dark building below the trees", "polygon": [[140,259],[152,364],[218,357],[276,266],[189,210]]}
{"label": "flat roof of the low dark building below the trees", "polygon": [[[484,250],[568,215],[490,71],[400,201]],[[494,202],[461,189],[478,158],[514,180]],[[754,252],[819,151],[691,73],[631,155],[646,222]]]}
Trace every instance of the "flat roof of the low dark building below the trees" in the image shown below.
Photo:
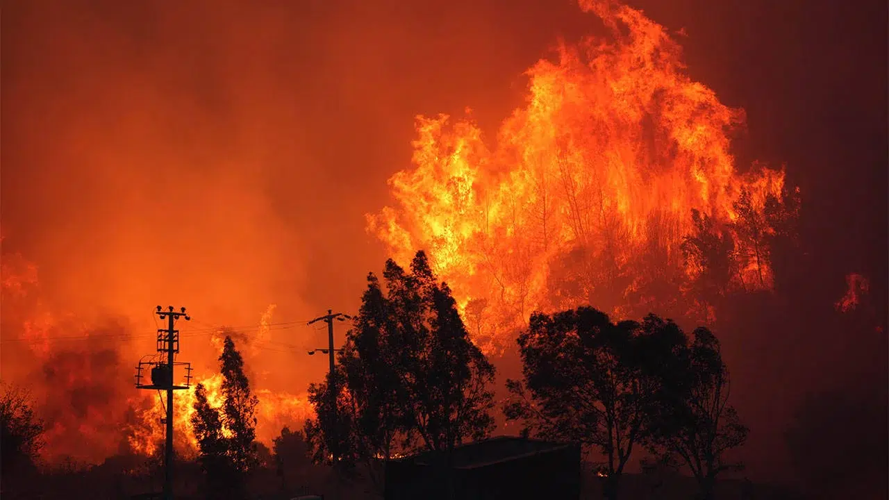
{"label": "flat roof of the low dark building below the trees", "polygon": [[[498,436],[488,440],[462,444],[454,448],[452,457],[453,467],[457,469],[475,469],[573,446],[575,445],[570,443],[532,440],[516,436]],[[435,452],[427,451],[412,456],[405,456],[396,461],[428,465],[434,463],[437,456]]]}

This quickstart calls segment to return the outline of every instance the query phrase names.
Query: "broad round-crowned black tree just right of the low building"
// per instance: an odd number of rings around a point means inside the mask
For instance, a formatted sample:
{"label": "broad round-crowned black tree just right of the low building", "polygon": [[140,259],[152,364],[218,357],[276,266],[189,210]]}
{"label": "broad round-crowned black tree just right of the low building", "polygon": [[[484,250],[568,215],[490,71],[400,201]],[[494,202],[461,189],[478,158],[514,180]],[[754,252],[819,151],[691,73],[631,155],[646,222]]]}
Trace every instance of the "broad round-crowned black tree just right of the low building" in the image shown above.
{"label": "broad round-crowned black tree just right of the low building", "polygon": [[507,419],[524,421],[525,434],[598,448],[605,496],[615,498],[661,393],[662,367],[681,343],[665,325],[614,324],[590,307],[535,313],[518,337],[524,380],[507,381]]}

